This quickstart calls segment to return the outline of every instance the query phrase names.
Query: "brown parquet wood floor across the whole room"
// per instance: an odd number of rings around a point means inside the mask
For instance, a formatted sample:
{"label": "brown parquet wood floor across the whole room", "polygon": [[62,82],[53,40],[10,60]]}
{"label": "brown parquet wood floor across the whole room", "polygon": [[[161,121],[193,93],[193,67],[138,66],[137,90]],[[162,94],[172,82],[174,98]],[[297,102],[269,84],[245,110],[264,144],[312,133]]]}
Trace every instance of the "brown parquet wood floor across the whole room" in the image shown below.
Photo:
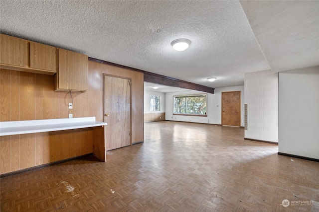
{"label": "brown parquet wood floor across the whole room", "polygon": [[319,163],[244,140],[243,128],[153,122],[144,141],[108,151],[106,163],[85,157],[1,178],[0,211],[319,211]]}

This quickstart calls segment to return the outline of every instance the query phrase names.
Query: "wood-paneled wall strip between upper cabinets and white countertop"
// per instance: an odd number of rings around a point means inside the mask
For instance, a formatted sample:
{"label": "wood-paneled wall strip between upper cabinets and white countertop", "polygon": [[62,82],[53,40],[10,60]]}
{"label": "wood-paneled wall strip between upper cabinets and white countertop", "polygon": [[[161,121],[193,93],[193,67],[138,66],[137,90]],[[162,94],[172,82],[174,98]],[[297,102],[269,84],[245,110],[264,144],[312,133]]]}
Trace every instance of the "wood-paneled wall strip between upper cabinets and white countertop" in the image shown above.
{"label": "wood-paneled wall strip between upper cabinets and white countertop", "polygon": [[[88,93],[54,91],[53,76],[23,71],[0,71],[0,121],[61,119],[92,116]],[[90,106],[90,107],[89,107]]]}

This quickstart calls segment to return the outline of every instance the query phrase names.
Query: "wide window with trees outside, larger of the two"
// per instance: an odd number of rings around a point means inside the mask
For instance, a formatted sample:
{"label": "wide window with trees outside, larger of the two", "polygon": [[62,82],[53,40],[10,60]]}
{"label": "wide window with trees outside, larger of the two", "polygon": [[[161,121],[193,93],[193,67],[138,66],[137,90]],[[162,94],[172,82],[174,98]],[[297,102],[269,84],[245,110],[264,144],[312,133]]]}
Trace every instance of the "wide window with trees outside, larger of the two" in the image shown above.
{"label": "wide window with trees outside, larger of the two", "polygon": [[173,96],[174,115],[207,116],[207,94]]}

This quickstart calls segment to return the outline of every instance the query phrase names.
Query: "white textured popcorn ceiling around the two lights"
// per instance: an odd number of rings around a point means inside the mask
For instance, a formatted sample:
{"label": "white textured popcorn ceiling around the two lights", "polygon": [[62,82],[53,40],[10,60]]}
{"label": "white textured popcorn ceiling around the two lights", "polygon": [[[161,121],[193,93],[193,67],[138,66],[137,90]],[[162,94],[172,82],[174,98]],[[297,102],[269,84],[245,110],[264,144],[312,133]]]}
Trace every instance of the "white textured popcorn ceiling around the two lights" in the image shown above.
{"label": "white textured popcorn ceiling around the two lights", "polygon": [[0,32],[209,87],[319,66],[319,1],[0,0]]}

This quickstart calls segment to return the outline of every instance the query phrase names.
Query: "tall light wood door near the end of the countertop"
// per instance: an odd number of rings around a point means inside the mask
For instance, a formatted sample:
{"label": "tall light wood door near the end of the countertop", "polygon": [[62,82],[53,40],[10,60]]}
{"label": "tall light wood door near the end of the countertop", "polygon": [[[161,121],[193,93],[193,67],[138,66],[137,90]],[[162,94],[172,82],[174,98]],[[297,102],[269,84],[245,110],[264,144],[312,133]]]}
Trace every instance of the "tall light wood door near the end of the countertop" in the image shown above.
{"label": "tall light wood door near the end of the countertop", "polygon": [[104,75],[106,150],[131,145],[131,80]]}

